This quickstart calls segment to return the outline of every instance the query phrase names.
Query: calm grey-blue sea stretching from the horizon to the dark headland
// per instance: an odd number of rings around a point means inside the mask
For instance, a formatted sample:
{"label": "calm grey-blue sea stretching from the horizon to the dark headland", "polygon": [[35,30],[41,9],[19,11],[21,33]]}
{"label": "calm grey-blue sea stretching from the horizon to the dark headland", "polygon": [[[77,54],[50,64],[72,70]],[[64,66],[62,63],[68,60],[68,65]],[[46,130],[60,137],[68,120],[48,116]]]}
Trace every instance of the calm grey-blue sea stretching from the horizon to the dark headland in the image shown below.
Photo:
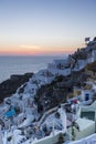
{"label": "calm grey-blue sea stretching from the horizon to the dark headland", "polygon": [[47,63],[64,56],[0,56],[0,83],[11,74],[38,72],[47,68]]}

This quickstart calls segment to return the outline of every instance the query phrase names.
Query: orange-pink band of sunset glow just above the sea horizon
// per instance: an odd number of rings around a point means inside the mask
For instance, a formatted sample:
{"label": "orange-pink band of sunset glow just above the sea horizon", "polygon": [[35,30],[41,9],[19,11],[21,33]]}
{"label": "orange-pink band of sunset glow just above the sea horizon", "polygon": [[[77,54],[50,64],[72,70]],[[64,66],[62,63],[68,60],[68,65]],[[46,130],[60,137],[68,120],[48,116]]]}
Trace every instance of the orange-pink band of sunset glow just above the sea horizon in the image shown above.
{"label": "orange-pink band of sunset glow just above the sea horizon", "polygon": [[[24,45],[25,47],[25,45]],[[72,53],[75,49],[63,49],[63,48],[10,48],[0,50],[0,55],[52,55],[52,54],[64,54]]]}

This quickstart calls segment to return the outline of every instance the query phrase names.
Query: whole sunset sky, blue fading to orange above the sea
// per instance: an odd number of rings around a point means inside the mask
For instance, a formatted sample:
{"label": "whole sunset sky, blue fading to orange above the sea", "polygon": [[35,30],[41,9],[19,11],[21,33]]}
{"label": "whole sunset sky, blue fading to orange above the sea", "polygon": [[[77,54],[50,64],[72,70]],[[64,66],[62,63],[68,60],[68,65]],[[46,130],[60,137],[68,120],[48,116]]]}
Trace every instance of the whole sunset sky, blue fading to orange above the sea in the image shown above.
{"label": "whole sunset sky, blue fading to orange above the sea", "polygon": [[0,55],[63,54],[96,37],[96,0],[0,0]]}

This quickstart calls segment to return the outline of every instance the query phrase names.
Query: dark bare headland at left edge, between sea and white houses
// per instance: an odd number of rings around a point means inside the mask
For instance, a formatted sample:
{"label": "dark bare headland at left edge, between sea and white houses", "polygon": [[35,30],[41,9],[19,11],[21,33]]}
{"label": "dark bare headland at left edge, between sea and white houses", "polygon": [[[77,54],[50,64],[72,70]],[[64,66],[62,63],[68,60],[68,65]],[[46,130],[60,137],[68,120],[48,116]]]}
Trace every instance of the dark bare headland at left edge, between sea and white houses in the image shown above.
{"label": "dark bare headland at left edge, between sea and white houses", "polygon": [[4,97],[11,96],[15,93],[17,89],[29,81],[33,73],[25,73],[23,75],[11,75],[9,80],[0,84],[0,102]]}

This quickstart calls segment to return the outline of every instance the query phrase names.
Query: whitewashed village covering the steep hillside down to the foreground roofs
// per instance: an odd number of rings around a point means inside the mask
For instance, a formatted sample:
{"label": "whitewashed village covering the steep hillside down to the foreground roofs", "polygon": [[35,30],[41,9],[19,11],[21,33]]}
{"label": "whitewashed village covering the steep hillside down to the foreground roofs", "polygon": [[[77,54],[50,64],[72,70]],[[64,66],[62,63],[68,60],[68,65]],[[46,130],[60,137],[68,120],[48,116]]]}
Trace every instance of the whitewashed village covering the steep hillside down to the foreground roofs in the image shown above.
{"label": "whitewashed village covering the steep hillside down to the foreground roofs", "polygon": [[0,104],[0,144],[95,144],[95,132],[96,38]]}

